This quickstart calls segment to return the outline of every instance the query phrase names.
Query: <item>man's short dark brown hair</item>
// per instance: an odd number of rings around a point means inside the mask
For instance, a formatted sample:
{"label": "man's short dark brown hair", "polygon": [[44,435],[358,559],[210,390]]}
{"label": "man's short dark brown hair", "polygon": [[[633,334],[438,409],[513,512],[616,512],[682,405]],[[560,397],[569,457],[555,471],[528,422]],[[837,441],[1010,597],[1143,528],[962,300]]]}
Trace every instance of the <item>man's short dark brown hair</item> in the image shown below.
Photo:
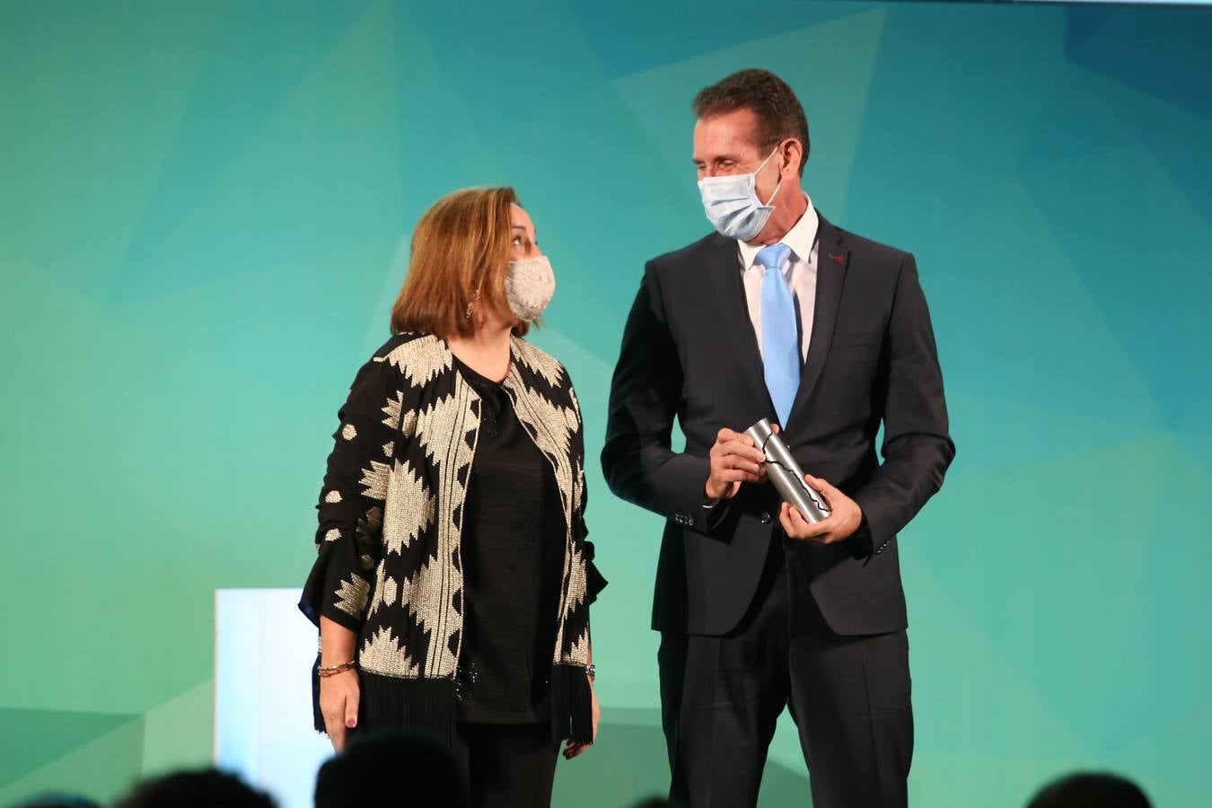
{"label": "man's short dark brown hair", "polygon": [[800,174],[808,162],[808,119],[804,105],[785,81],[770,70],[738,70],[704,87],[691,104],[699,120],[724,115],[737,109],[749,109],[758,118],[759,149],[773,149],[787,138],[804,145]]}

